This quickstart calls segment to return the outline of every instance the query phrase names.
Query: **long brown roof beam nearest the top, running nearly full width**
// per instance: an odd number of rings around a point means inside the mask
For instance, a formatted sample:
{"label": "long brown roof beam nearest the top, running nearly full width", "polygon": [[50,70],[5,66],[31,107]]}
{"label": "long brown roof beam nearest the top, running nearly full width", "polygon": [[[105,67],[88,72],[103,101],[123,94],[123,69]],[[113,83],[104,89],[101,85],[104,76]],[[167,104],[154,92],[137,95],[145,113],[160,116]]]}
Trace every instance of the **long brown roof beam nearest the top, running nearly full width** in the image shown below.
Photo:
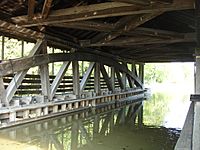
{"label": "long brown roof beam nearest the top, running nearly full width", "polygon": [[136,15],[185,9],[194,9],[194,0],[174,0],[172,4],[155,4],[146,7],[138,7],[133,4],[127,3],[106,2],[52,11],[49,14],[49,17],[45,20],[28,21],[27,16],[14,17],[12,18],[12,20],[13,22],[23,25],[25,27],[31,27],[38,25],[56,24],[61,22],[72,22],[105,17]]}

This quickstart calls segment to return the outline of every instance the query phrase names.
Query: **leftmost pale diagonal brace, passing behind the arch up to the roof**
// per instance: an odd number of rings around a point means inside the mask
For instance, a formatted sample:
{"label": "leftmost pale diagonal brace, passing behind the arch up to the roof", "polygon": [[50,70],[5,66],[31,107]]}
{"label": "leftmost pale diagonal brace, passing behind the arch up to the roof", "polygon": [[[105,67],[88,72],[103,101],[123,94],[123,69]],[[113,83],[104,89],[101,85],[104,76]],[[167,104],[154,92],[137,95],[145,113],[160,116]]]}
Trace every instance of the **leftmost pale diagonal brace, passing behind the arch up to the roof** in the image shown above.
{"label": "leftmost pale diagonal brace, passing behind the arch up to the roof", "polygon": [[[35,54],[39,53],[41,48],[42,48],[42,40],[37,41],[33,49],[31,50],[29,57],[34,56]],[[12,61],[10,61],[10,64],[12,66]],[[13,68],[14,69],[14,68]],[[9,103],[12,97],[14,96],[15,92],[17,91],[17,88],[20,86],[22,80],[24,79],[26,73],[28,72],[27,70],[19,71],[15,74],[13,77],[12,81],[6,88],[6,103]]]}

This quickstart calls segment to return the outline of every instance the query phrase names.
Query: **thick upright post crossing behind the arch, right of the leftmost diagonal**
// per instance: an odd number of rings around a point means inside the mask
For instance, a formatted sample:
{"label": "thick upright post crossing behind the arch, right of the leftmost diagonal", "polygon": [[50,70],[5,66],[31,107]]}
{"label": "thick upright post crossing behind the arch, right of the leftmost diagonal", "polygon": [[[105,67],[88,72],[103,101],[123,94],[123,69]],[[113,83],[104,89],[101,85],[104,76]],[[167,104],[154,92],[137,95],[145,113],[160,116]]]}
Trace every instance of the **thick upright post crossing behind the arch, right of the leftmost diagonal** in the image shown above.
{"label": "thick upright post crossing behind the arch, right of the leftmost diagonal", "polygon": [[[42,54],[47,53],[47,42],[43,42],[43,49],[41,51]],[[40,79],[42,86],[42,95],[46,96],[50,99],[50,82],[49,82],[49,65],[43,64],[39,66],[40,69]]]}

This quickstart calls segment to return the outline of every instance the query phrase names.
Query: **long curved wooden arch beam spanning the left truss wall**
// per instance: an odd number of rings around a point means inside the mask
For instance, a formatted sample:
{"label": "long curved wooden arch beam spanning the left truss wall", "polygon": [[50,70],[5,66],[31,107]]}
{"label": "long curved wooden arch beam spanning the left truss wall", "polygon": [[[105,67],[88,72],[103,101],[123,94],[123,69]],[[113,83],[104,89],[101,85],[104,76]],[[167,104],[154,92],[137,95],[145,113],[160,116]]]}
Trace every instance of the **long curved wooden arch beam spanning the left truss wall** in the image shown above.
{"label": "long curved wooden arch beam spanning the left truss wall", "polygon": [[[91,62],[100,62],[108,66],[113,66],[121,72],[126,72],[131,78],[136,81],[136,84],[141,85],[139,79],[131,73],[124,65],[119,64],[115,59],[110,59],[109,57],[103,57],[96,54],[88,54],[84,52],[75,52],[75,53],[56,53],[48,55],[37,55],[33,57],[27,57],[22,59],[17,59],[12,61],[12,66],[10,62],[4,62],[0,64],[0,76],[5,76],[12,74],[13,71],[26,70],[31,67],[39,66],[46,63],[52,62],[62,62],[62,61],[91,61]],[[20,66],[20,67],[19,67]],[[13,69],[12,69],[13,68]]]}

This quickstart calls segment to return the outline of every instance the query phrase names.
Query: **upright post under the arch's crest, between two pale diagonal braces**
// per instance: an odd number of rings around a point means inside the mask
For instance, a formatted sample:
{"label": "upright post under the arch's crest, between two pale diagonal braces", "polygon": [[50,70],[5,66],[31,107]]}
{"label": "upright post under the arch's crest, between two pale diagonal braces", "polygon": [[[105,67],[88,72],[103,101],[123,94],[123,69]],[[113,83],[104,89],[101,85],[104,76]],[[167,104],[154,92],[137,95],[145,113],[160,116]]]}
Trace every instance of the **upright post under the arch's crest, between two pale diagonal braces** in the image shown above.
{"label": "upright post under the arch's crest, between two pale diagonal braces", "polygon": [[80,96],[80,75],[79,75],[79,64],[78,61],[72,61],[72,70],[73,70],[73,93],[77,96]]}

